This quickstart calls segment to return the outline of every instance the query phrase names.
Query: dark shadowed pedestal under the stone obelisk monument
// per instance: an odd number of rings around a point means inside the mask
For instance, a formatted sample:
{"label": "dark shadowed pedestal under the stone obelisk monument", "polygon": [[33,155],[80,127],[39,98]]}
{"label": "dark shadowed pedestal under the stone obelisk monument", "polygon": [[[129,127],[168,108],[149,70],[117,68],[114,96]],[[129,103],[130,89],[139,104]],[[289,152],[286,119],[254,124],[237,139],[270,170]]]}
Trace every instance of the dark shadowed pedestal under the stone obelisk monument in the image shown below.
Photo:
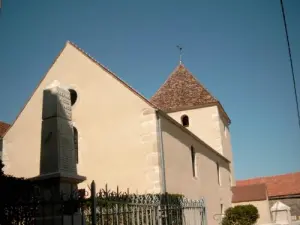
{"label": "dark shadowed pedestal under the stone obelisk monument", "polygon": [[40,188],[42,204],[37,225],[85,225],[79,210],[77,185],[86,178],[66,173],[44,174],[32,178]]}

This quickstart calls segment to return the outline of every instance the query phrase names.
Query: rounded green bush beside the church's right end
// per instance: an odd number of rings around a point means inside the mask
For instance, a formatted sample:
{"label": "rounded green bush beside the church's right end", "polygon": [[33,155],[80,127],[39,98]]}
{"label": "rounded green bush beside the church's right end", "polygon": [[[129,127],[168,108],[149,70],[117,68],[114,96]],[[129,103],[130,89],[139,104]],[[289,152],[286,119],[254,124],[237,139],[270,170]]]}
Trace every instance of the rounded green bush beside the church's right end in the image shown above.
{"label": "rounded green bush beside the church's right end", "polygon": [[259,213],[254,205],[238,205],[226,210],[222,225],[252,225],[258,218]]}

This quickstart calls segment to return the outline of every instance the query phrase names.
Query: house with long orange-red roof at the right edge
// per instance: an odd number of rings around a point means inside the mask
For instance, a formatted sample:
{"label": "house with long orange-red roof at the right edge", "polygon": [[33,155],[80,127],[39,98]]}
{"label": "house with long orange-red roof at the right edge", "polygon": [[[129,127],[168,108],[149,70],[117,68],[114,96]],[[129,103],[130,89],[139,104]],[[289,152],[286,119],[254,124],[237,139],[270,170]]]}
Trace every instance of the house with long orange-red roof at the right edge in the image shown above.
{"label": "house with long orange-red roof at the right edge", "polygon": [[280,201],[290,207],[292,221],[300,221],[300,172],[239,180],[235,188],[254,184],[266,185],[270,208]]}

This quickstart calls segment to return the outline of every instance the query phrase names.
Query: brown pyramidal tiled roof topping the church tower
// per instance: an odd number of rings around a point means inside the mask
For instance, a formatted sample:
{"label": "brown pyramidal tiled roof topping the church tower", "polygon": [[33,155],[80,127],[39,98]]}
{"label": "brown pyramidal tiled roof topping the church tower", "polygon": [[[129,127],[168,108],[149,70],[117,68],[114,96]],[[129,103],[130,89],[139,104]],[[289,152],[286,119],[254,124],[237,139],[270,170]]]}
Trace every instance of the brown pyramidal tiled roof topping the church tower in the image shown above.
{"label": "brown pyramidal tiled roof topping the church tower", "polygon": [[150,102],[159,109],[170,112],[218,103],[218,100],[183,64],[179,64]]}

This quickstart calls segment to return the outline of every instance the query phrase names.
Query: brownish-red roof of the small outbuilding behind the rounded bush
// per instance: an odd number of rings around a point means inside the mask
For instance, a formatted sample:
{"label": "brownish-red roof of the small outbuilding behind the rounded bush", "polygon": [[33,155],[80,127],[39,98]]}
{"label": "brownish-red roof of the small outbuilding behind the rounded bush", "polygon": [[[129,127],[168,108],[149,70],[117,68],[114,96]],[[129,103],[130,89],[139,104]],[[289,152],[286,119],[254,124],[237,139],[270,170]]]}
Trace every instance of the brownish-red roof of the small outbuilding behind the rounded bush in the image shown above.
{"label": "brownish-red roof of the small outbuilding behind the rounded bush", "polygon": [[265,184],[232,187],[232,203],[262,201],[268,199]]}

